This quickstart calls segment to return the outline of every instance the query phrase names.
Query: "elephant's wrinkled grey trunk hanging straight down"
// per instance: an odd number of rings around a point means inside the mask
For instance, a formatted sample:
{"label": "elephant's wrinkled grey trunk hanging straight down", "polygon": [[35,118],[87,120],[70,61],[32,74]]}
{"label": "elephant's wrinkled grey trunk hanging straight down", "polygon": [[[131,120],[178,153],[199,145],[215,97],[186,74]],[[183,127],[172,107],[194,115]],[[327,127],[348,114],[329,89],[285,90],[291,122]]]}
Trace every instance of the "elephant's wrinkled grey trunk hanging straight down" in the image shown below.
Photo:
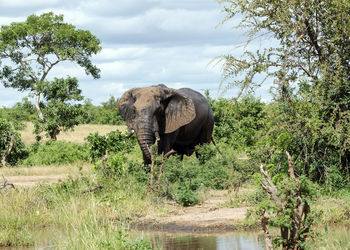
{"label": "elephant's wrinkled grey trunk hanging straight down", "polygon": [[138,131],[137,141],[143,154],[143,160],[145,164],[152,163],[151,147],[154,143],[154,135],[151,127],[148,124],[144,124]]}

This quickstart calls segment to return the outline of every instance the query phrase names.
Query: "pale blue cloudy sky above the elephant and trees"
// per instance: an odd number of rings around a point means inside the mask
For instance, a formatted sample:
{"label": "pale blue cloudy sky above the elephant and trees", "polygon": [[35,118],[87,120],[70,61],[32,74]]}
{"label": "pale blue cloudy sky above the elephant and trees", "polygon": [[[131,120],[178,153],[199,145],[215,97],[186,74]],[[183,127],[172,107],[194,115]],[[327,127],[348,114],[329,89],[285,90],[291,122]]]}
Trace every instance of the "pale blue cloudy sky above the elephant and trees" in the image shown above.
{"label": "pale blue cloudy sky above the elephant and trees", "polygon": [[[238,20],[221,24],[222,10],[215,0],[0,0],[0,25],[53,11],[77,29],[90,30],[101,41],[102,51],[92,58],[101,78],[72,63],[56,65],[50,76],[77,77],[82,94],[95,105],[130,88],[160,83],[202,93],[208,89],[216,98],[222,79],[216,59],[239,55],[237,46],[247,39],[233,28]],[[257,96],[267,98],[265,92]],[[0,84],[0,107],[27,95]]]}

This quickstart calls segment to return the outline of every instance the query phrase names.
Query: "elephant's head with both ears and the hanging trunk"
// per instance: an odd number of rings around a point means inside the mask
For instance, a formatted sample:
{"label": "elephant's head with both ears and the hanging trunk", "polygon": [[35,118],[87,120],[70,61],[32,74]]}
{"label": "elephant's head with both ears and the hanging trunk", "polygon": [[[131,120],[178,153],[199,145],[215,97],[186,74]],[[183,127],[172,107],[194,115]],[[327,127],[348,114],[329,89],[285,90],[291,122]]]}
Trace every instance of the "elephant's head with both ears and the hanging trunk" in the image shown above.
{"label": "elephant's head with both ears and the hanging trunk", "polygon": [[162,134],[176,131],[196,116],[191,99],[165,85],[134,88],[118,102],[119,113],[136,133],[145,164],[151,163],[150,147]]}

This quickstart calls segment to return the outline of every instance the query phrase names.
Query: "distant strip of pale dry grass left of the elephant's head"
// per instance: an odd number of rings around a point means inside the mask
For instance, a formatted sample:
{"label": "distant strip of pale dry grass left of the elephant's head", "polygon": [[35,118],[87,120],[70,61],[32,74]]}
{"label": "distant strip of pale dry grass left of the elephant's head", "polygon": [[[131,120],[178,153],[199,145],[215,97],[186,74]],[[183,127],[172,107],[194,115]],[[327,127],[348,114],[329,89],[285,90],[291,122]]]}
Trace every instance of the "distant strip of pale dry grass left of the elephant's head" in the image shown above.
{"label": "distant strip of pale dry grass left of the elephant's head", "polygon": [[[26,124],[26,128],[21,131],[21,137],[26,145],[35,142],[35,135],[33,134],[34,125],[30,122]],[[84,143],[84,138],[90,133],[98,132],[100,135],[108,134],[114,130],[120,130],[122,132],[126,131],[126,126],[123,125],[100,125],[100,124],[82,124],[76,126],[73,131],[61,132],[57,136],[59,141],[69,141],[76,143]],[[49,140],[42,134],[44,141]]]}

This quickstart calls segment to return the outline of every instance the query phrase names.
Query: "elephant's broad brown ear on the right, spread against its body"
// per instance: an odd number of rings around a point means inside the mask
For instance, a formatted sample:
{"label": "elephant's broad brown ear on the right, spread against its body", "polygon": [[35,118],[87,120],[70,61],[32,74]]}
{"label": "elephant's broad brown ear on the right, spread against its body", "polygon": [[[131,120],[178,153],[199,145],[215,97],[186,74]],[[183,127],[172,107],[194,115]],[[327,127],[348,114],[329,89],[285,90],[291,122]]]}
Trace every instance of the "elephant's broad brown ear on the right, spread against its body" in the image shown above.
{"label": "elephant's broad brown ear on the right, spread against its body", "polygon": [[191,99],[177,93],[170,97],[165,109],[165,131],[169,134],[190,123],[196,117],[196,110]]}

